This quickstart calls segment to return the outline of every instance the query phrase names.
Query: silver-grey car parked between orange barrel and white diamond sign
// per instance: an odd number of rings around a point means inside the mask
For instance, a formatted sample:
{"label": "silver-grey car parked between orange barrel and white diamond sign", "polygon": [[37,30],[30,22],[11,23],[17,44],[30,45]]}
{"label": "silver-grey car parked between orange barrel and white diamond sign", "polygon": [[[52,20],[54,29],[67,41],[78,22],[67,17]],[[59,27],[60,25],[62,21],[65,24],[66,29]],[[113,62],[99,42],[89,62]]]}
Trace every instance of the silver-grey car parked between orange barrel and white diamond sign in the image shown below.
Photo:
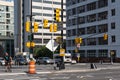
{"label": "silver-grey car parked between orange barrel and white diamond sign", "polygon": [[37,59],[38,64],[53,64],[53,59],[50,59],[49,57],[39,57]]}

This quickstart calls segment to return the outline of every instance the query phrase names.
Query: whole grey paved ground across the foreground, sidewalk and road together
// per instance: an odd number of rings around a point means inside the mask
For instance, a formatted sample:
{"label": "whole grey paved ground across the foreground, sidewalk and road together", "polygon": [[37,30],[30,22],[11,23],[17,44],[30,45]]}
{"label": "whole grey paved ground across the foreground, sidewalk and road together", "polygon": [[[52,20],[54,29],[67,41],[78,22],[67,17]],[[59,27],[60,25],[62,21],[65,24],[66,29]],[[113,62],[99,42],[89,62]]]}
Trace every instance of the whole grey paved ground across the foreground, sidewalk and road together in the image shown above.
{"label": "whole grey paved ground across the foreground, sidewalk and road together", "polygon": [[66,70],[61,71],[52,70],[52,65],[37,65],[39,73],[36,74],[25,73],[28,66],[14,66],[12,73],[5,73],[1,70],[0,80],[120,80],[120,64],[96,65],[99,69],[89,69],[90,64],[66,65]]}

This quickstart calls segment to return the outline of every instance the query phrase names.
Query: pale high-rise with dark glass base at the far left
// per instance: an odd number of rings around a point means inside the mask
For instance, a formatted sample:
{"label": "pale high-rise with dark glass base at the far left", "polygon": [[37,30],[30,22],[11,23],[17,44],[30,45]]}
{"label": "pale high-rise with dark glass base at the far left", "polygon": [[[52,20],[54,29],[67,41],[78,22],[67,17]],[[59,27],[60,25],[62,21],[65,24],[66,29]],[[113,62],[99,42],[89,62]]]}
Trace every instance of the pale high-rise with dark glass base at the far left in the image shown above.
{"label": "pale high-rise with dark glass base at the far left", "polygon": [[0,54],[14,55],[14,3],[0,0]]}

